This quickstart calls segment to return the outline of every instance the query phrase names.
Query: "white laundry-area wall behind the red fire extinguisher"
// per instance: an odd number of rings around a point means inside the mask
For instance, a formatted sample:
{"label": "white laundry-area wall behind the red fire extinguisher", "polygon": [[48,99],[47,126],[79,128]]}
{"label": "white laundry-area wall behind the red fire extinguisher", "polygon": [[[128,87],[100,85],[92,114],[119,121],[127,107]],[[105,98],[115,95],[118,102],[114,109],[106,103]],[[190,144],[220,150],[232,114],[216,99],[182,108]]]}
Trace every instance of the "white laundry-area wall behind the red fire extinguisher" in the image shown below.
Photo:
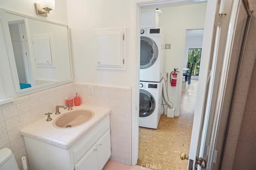
{"label": "white laundry-area wall behind the red fire extinguisher", "polygon": [[[166,78],[166,72],[168,72],[168,96],[175,105],[175,116],[178,116],[180,112],[182,72],[186,48],[186,30],[204,28],[206,2],[159,9],[162,11],[159,27],[162,27],[164,30],[166,43],[171,44],[171,49],[165,50],[164,77]],[[170,72],[174,68],[179,68],[178,71],[180,71],[176,87],[170,86],[169,79]]]}

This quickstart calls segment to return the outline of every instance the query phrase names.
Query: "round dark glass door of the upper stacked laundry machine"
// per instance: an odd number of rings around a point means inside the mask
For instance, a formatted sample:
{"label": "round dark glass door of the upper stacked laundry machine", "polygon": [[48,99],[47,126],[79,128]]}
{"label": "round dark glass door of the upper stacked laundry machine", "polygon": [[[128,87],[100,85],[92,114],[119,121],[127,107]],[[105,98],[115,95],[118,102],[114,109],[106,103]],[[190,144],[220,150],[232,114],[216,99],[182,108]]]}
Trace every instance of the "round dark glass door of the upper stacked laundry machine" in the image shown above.
{"label": "round dark glass door of the upper stacked laundry machine", "polygon": [[156,43],[148,37],[140,37],[140,69],[152,66],[158,56]]}

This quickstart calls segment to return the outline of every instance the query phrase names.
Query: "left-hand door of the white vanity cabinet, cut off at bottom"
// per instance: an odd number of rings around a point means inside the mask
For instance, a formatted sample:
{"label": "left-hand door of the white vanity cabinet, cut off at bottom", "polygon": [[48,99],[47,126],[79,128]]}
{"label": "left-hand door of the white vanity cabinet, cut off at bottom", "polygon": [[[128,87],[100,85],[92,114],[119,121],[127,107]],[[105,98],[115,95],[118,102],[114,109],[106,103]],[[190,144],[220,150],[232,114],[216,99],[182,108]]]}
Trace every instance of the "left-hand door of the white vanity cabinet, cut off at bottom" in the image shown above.
{"label": "left-hand door of the white vanity cabinet, cut off at bottom", "polygon": [[97,147],[93,145],[75,164],[75,170],[98,170]]}

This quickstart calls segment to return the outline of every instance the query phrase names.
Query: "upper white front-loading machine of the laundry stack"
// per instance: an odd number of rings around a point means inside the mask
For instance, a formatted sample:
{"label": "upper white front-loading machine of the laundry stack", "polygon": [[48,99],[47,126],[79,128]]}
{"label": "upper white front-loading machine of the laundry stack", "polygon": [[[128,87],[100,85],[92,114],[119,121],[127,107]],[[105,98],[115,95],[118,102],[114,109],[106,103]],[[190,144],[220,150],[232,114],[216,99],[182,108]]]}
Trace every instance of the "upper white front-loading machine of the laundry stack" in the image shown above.
{"label": "upper white front-loading machine of the laundry stack", "polygon": [[160,82],[164,69],[164,48],[162,28],[140,30],[140,81]]}

